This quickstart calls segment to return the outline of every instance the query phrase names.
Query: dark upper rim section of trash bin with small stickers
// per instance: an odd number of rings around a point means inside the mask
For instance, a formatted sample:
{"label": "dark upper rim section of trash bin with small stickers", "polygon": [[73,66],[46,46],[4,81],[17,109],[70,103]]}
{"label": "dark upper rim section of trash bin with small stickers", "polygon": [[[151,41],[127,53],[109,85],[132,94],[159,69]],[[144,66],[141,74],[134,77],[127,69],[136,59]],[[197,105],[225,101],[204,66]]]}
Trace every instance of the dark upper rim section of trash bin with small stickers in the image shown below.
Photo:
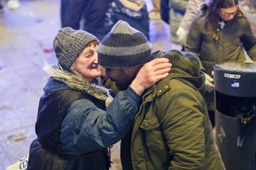
{"label": "dark upper rim section of trash bin with small stickers", "polygon": [[256,97],[256,63],[222,63],[214,67],[215,90],[236,97]]}

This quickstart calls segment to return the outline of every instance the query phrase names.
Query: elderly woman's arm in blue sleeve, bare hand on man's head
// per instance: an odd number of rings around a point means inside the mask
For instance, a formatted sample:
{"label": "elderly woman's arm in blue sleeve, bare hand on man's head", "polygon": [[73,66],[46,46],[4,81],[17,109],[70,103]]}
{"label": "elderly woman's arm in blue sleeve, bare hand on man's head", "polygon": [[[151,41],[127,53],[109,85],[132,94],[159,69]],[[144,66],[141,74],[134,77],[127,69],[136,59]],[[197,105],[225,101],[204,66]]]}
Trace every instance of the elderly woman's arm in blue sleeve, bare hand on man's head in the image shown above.
{"label": "elderly woman's arm in blue sleeve, bare hand on man's head", "polygon": [[72,103],[61,123],[59,139],[63,152],[81,155],[109,147],[122,139],[134,123],[140,95],[168,76],[170,67],[168,59],[155,59],[145,64],[129,88],[117,93],[106,111],[87,99]]}

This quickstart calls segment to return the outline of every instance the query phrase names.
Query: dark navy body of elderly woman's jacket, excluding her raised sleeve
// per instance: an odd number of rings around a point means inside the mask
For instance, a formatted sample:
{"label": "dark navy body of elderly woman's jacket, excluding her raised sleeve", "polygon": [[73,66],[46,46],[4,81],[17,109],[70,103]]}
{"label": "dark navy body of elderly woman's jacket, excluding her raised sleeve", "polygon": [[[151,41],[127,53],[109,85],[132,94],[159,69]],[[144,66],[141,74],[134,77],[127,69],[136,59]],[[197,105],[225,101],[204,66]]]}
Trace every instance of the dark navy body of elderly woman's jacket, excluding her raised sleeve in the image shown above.
{"label": "dark navy body of elderly woman's jacket, excluding her raised sleeve", "polygon": [[104,100],[74,89],[62,89],[41,97],[36,121],[38,139],[30,146],[28,169],[109,169],[108,150],[74,156],[65,154],[61,149],[59,127],[62,119],[70,105],[80,99],[90,100],[97,107],[106,109]]}

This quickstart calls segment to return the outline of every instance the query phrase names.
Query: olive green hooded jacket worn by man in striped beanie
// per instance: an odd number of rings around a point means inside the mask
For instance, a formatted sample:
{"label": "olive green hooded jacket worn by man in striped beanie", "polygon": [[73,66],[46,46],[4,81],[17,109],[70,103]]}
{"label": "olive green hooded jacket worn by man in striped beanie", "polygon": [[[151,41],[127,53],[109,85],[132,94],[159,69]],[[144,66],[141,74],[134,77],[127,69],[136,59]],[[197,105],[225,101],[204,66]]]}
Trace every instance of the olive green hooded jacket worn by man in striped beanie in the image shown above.
{"label": "olive green hooded jacket worn by man in striped beanie", "polygon": [[173,67],[143,95],[132,132],[121,142],[123,169],[224,169],[200,93],[204,76],[197,57],[179,51],[156,55]]}

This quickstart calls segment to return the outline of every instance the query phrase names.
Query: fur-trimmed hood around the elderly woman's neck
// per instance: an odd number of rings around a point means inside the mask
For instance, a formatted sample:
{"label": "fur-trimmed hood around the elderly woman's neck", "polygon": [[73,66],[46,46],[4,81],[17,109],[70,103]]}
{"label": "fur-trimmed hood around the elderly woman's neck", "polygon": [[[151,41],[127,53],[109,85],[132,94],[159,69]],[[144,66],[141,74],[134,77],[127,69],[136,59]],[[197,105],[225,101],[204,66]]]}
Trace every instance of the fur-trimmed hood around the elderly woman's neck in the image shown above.
{"label": "fur-trimmed hood around the elderly woman's neck", "polygon": [[51,76],[43,89],[45,93],[62,89],[77,89],[100,100],[106,100],[109,96],[109,90],[98,85],[100,79],[95,79],[92,83],[89,83],[85,79],[63,70],[59,65],[46,64],[43,69]]}

